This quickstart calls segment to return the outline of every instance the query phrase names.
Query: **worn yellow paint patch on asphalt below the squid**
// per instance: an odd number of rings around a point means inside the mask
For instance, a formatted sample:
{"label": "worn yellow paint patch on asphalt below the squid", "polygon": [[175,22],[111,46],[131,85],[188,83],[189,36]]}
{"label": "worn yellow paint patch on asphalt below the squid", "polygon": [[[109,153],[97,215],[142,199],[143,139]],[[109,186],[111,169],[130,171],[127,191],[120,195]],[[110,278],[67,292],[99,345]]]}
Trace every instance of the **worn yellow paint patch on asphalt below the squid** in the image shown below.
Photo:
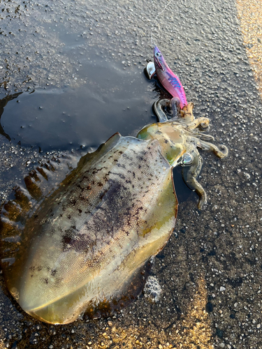
{"label": "worn yellow paint patch on asphalt below the squid", "polygon": [[[214,349],[212,338],[212,327],[210,315],[205,311],[205,304],[208,302],[208,291],[206,288],[205,279],[203,276],[197,281],[197,288],[194,296],[189,303],[187,311],[181,314],[180,319],[172,319],[170,313],[170,321],[174,322],[172,328],[168,331],[163,329],[167,326],[166,322],[161,322],[161,308],[159,309],[159,318],[154,319],[155,325],[150,326],[150,323],[145,322],[145,325],[134,327],[111,327],[108,329],[108,336],[114,339],[115,347],[122,348],[122,343],[125,343],[126,349],[147,348],[147,349]],[[154,306],[159,306],[154,304]],[[147,311],[145,311],[147,313]],[[145,343],[145,328],[147,329],[147,337],[152,339]],[[156,331],[158,331],[156,336]],[[117,336],[115,336],[117,333]],[[143,341],[141,341],[141,339]],[[159,344],[161,343],[161,344]],[[93,346],[92,346],[93,348]],[[94,348],[100,348],[94,346]]]}

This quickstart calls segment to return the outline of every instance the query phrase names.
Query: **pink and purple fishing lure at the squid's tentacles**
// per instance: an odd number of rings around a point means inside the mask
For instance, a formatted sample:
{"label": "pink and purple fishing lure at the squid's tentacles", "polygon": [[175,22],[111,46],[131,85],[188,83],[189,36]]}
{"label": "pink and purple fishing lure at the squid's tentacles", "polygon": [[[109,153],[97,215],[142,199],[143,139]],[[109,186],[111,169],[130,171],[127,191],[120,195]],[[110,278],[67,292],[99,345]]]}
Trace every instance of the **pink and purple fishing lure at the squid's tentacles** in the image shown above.
{"label": "pink and purple fishing lure at the squid's tentacles", "polygon": [[157,46],[154,47],[154,67],[156,69],[157,78],[163,87],[172,95],[180,99],[180,108],[187,105],[187,97],[184,93],[184,87],[177,75],[166,64],[163,54],[161,54]]}

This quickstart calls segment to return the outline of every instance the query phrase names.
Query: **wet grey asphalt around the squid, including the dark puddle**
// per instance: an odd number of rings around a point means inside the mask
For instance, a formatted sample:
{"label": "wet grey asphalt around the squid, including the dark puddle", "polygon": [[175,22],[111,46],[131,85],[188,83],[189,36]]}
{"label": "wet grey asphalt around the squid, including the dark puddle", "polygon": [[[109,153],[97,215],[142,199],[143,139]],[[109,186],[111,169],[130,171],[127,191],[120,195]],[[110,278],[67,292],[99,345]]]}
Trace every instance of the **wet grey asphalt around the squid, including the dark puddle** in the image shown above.
{"label": "wet grey asphalt around the squid, including the dark puddle", "polygon": [[1,276],[0,348],[262,348],[262,105],[235,2],[174,1],[155,21],[163,9],[155,0],[0,8],[3,199],[34,165],[154,121],[161,91],[143,75],[151,28],[195,116],[209,117],[214,142],[229,150],[224,160],[201,151],[203,211],[175,174],[177,224],[152,269],[159,302],[140,295],[109,319],[52,326],[24,313]]}

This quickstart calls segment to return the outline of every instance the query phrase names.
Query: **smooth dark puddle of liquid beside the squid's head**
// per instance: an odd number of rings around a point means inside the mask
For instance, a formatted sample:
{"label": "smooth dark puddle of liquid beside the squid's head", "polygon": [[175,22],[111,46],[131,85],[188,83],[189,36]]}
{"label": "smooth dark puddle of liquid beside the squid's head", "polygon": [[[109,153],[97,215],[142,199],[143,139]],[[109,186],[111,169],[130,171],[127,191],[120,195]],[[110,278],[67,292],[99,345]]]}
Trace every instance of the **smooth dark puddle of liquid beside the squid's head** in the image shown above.
{"label": "smooth dark puddle of liquid beside the squid's head", "polygon": [[[98,147],[112,134],[135,135],[152,122],[157,94],[143,72],[93,60],[80,66],[81,87],[38,89],[8,101],[2,135],[22,147]],[[77,79],[77,77],[75,77]],[[15,95],[16,96],[16,95]]]}

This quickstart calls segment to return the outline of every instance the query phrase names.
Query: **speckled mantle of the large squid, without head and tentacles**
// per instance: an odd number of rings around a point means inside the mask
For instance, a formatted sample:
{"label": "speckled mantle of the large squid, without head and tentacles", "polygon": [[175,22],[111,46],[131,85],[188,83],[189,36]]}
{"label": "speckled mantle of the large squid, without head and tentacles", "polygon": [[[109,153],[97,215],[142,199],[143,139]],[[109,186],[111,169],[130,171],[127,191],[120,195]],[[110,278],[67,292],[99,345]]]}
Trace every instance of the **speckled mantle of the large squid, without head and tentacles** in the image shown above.
{"label": "speckled mantle of the large squid, without head and tentacles", "polygon": [[166,244],[176,214],[159,142],[117,133],[27,220],[21,243],[28,251],[6,266],[8,288],[34,317],[71,322],[91,302],[121,296]]}

